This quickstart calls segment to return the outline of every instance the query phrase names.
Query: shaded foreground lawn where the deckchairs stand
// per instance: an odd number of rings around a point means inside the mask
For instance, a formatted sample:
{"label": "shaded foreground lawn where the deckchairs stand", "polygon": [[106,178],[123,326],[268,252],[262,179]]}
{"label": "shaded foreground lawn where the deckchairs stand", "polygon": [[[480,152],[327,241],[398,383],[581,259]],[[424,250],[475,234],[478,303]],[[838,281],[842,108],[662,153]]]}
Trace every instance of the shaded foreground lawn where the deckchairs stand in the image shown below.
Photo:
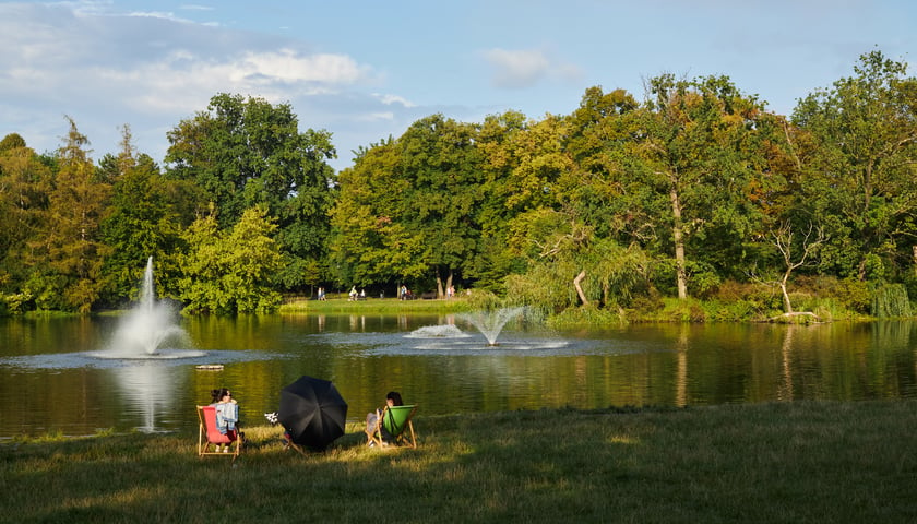
{"label": "shaded foreground lawn where the deckchairs stand", "polygon": [[538,410],[415,420],[416,450],[231,464],[196,434],[0,445],[0,522],[864,522],[917,520],[917,402]]}

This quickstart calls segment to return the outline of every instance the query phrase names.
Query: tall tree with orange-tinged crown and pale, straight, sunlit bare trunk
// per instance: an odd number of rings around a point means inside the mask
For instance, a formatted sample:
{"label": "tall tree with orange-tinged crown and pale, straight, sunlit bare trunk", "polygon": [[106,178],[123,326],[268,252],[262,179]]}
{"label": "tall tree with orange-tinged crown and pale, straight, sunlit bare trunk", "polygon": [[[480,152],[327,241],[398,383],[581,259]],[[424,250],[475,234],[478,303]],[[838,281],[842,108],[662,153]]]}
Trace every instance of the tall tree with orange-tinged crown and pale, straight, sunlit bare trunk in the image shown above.
{"label": "tall tree with orange-tinged crown and pale, straight, sunlit bare trunk", "polygon": [[725,76],[689,82],[666,74],[650,81],[648,94],[641,171],[655,199],[668,202],[668,246],[684,299],[692,267],[716,279],[710,263],[735,263],[741,253],[728,250],[759,228],[748,196],[764,178],[771,128],[757,97]]}

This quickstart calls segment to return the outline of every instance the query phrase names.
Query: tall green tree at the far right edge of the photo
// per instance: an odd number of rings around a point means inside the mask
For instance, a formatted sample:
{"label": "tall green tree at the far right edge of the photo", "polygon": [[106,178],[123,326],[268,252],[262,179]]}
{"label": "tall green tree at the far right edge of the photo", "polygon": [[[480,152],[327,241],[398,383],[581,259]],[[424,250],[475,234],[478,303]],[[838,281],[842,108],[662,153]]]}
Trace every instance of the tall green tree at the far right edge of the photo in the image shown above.
{"label": "tall green tree at the far right edge of the photo", "polygon": [[917,80],[876,50],[854,76],[800,100],[793,121],[810,133],[803,165],[808,210],[832,239],[822,267],[860,281],[890,277],[912,260],[917,236]]}

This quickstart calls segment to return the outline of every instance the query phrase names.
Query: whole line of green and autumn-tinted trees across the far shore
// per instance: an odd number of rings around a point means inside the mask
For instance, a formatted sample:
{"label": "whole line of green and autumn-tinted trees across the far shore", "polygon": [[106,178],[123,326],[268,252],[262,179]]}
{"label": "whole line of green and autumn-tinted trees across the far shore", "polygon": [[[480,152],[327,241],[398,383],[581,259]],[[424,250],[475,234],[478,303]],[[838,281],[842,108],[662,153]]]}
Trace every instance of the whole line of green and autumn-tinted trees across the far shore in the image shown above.
{"label": "whole line of green and autumn-tinted trees across the far shore", "polygon": [[791,314],[808,289],[897,315],[917,293],[917,80],[879,50],[790,116],[727,76],[662,74],[642,99],[590,87],[570,115],[431,115],[341,172],[330,132],[261,98],[214,96],[163,166],[128,126],[95,163],[69,124],[53,153],[0,142],[0,311],[117,307],[151,255],[189,312],[403,283],[548,313]]}

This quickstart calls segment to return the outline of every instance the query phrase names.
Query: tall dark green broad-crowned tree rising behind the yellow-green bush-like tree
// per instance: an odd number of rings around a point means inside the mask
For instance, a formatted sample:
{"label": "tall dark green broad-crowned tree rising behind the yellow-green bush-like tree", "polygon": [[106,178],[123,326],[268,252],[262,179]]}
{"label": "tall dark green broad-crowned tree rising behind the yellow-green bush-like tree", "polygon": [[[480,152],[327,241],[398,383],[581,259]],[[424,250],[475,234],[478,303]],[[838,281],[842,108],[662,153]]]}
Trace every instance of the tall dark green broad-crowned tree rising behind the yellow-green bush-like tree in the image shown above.
{"label": "tall dark green broad-crowned tree rising behind the yellow-green bush-like tree", "polygon": [[287,287],[305,283],[308,261],[323,260],[327,218],[335,198],[331,133],[299,132],[288,104],[218,94],[206,111],[168,133],[168,176],[193,180],[216,204],[221,229],[263,206],[277,225],[276,240],[295,273],[279,275]]}

